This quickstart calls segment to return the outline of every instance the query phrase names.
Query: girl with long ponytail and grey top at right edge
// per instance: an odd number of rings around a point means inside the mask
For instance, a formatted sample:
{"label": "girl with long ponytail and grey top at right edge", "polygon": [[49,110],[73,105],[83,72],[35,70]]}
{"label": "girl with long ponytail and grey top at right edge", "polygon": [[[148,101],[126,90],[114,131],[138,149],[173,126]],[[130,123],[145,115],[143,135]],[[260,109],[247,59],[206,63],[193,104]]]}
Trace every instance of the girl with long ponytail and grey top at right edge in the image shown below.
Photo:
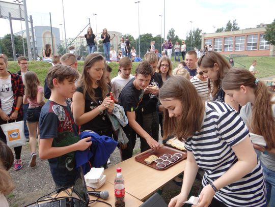
{"label": "girl with long ponytail and grey top at right edge", "polygon": [[275,97],[267,86],[248,70],[231,69],[223,80],[223,89],[242,108],[240,116],[250,132],[262,135],[266,147],[253,144],[260,153],[266,179],[267,201],[275,206]]}

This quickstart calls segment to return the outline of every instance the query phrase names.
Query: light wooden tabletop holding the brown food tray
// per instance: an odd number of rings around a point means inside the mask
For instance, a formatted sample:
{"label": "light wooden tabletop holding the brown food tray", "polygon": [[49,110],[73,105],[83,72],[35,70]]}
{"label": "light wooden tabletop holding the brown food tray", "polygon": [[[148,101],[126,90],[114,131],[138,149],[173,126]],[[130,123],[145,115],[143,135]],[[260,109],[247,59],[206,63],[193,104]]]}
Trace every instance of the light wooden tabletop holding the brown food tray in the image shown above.
{"label": "light wooden tabletop holding the brown food tray", "polygon": [[104,170],[106,182],[114,184],[117,167],[121,167],[125,191],[144,200],[184,171],[186,159],[166,170],[157,170],[134,160],[134,157]]}

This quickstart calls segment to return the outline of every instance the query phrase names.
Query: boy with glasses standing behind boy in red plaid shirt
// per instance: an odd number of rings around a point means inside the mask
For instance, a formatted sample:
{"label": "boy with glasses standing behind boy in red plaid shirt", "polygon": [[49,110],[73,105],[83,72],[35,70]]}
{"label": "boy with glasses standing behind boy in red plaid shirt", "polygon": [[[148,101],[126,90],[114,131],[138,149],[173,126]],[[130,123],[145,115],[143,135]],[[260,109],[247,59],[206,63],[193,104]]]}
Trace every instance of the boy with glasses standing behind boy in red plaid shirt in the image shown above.
{"label": "boy with glasses standing behind boy in red plaid shirt", "polygon": [[[17,71],[17,74],[22,77],[23,84],[25,83],[25,73],[29,71],[28,67],[28,60],[24,56],[19,56],[17,58],[18,66],[20,67],[20,70]],[[29,129],[26,126],[26,111],[29,108],[29,103],[23,104],[23,120],[24,120],[24,135],[27,141],[29,141]]]}

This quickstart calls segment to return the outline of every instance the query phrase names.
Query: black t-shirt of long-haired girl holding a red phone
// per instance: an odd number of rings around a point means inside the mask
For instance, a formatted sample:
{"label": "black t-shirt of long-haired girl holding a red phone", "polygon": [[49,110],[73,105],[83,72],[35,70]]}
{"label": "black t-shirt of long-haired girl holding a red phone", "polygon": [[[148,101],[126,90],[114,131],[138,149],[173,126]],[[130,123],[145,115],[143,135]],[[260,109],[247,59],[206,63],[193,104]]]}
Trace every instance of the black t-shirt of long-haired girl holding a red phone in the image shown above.
{"label": "black t-shirt of long-haired girl holding a red phone", "polygon": [[[89,112],[94,108],[98,107],[103,102],[101,88],[94,88],[95,90],[95,99],[94,102],[91,97],[86,93],[85,95],[85,110],[84,112]],[[76,88],[77,92],[83,93],[82,87]],[[94,119],[80,126],[80,131],[84,130],[92,130],[98,134],[102,134],[100,132],[110,131],[112,130],[112,123],[107,116],[107,110],[104,110],[103,113],[98,114]]]}

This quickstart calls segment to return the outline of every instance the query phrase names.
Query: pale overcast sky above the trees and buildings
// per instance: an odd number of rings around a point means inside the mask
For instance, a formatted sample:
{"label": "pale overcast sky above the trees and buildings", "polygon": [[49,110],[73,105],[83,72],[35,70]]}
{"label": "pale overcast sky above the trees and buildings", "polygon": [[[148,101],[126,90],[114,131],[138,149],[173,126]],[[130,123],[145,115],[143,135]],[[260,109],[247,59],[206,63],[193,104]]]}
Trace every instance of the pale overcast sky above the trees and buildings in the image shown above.
{"label": "pale overcast sky above the trees and buildings", "polygon": [[[169,30],[174,28],[175,34],[181,39],[185,39],[191,28],[200,28],[203,33],[208,34],[226,26],[229,20],[232,22],[236,19],[240,29],[245,29],[254,28],[260,23],[272,23],[275,18],[274,0],[140,0],[139,15],[135,2],[134,0],[64,0],[66,37],[76,37],[87,26],[89,18],[94,33],[101,33],[103,28],[107,28],[108,31],[121,32],[122,35],[130,34],[137,38],[139,17],[141,35],[151,33],[153,36],[161,34],[163,37],[165,16],[166,37]],[[26,6],[28,15],[33,16],[34,26],[49,26],[49,12],[51,12],[52,26],[60,28],[60,37],[65,39],[62,0],[26,0]],[[12,20],[12,24],[14,33],[21,31],[20,21]],[[7,19],[0,19],[0,25],[0,37],[10,33]],[[24,22],[22,28],[25,29]],[[81,35],[86,33],[87,28]]]}

